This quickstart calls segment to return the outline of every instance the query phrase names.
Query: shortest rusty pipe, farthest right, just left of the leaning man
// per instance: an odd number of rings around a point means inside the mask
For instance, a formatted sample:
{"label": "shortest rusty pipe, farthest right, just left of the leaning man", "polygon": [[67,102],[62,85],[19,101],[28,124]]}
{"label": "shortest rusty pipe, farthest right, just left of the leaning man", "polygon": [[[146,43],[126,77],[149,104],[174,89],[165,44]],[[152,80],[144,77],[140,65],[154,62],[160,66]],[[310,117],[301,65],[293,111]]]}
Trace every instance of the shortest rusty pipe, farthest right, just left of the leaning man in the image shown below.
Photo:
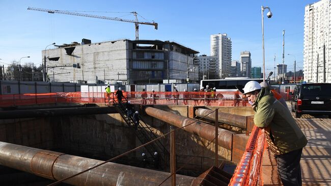
{"label": "shortest rusty pipe, farthest right, just left of the leaning man", "polygon": [[[214,113],[211,113],[211,112],[213,112],[213,111],[208,110],[208,109],[197,109],[196,115],[202,118],[209,114],[205,118],[215,121],[215,112]],[[247,118],[246,116],[218,112],[218,122],[226,123],[226,124],[237,126],[240,128],[246,128],[246,122],[247,122],[246,118]]]}

